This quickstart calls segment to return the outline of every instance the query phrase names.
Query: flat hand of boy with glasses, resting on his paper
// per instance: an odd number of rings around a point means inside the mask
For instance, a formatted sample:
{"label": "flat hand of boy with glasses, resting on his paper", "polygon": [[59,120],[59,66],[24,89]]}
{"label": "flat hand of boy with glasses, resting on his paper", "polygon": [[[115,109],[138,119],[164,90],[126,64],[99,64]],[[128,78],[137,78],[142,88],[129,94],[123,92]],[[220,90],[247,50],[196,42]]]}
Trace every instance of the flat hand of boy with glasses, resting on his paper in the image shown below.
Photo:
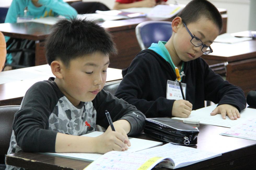
{"label": "flat hand of boy with glasses, resting on his paper", "polygon": [[240,118],[240,113],[237,110],[236,107],[229,105],[229,104],[222,104],[219,105],[218,107],[216,107],[212,112],[211,115],[216,115],[216,114],[221,114],[223,119],[226,119],[226,115],[228,115],[228,117],[231,120],[235,120],[237,118]]}

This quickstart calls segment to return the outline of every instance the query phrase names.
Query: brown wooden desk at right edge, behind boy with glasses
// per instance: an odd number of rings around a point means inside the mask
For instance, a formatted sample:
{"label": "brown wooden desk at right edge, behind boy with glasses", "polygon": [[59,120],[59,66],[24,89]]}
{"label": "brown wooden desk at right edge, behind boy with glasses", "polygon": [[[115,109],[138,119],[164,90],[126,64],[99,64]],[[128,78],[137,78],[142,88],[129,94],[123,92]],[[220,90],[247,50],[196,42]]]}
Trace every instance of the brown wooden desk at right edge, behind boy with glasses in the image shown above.
{"label": "brown wooden desk at right edge, behind boy with glasses", "polygon": [[228,62],[226,80],[242,88],[245,95],[256,89],[256,40],[211,45],[213,53],[202,55],[209,65]]}

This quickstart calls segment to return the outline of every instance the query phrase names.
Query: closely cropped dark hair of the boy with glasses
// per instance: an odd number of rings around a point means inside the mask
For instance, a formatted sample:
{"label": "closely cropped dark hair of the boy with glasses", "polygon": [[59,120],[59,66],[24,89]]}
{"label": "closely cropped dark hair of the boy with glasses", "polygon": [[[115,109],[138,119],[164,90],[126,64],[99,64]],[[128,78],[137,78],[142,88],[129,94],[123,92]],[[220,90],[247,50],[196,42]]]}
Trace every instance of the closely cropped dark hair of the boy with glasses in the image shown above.
{"label": "closely cropped dark hair of the boy with glasses", "polygon": [[222,17],[218,9],[207,0],[190,1],[177,16],[181,17],[182,21],[187,25],[205,17],[216,24],[219,28],[219,32],[222,30]]}

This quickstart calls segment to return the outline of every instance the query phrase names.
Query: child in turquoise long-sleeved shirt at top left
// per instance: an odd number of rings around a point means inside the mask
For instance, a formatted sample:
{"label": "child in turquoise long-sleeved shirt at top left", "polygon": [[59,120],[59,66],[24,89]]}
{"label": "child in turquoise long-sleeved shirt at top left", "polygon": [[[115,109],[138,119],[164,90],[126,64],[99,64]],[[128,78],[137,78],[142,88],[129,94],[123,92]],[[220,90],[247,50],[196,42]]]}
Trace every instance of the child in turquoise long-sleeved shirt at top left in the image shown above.
{"label": "child in turquoise long-sleeved shirt at top left", "polygon": [[[77,15],[77,11],[63,0],[13,0],[7,12],[5,23],[16,23],[17,18],[18,22],[22,22],[31,18],[58,15],[74,17]],[[5,41],[7,42],[9,38],[5,37]],[[11,64],[13,62],[12,55],[8,54],[6,60],[7,64]],[[11,67],[6,67],[5,70],[7,69],[11,69]]]}

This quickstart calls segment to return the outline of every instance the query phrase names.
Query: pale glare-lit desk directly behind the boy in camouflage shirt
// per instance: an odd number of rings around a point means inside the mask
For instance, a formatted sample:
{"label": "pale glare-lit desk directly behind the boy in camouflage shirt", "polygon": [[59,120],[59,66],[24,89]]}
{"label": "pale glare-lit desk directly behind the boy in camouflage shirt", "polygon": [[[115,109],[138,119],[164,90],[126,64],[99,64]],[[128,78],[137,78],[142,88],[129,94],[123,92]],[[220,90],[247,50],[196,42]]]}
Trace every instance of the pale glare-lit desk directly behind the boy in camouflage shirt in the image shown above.
{"label": "pale glare-lit desk directly behind the boy in camouflage shirt", "polygon": [[[107,72],[106,82],[121,80],[123,78],[120,69],[108,68]],[[18,76],[15,74],[18,74]],[[12,75],[15,75],[15,77]],[[4,84],[0,84],[0,106],[20,105],[26,91],[34,83],[48,80],[49,77],[54,77],[49,65],[0,72],[0,80],[7,76],[13,78],[6,80],[6,83]]]}

